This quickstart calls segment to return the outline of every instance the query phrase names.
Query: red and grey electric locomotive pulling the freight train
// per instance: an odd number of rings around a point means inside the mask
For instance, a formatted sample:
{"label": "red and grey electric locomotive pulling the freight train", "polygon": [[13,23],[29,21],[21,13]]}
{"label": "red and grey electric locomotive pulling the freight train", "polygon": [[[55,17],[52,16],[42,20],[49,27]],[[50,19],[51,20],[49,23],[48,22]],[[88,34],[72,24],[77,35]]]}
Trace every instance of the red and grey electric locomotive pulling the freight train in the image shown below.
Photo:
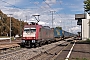
{"label": "red and grey electric locomotive pulling the freight train", "polygon": [[54,32],[50,27],[33,22],[24,26],[21,46],[36,47],[50,41],[54,41]]}

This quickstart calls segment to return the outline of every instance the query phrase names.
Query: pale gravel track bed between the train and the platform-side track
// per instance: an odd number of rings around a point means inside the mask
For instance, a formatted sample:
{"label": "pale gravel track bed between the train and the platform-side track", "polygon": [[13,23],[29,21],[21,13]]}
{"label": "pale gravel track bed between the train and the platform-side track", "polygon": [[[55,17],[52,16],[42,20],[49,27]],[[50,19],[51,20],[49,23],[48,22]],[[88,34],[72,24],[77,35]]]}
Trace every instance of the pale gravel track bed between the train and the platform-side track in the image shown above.
{"label": "pale gravel track bed between the train and the platform-side track", "polygon": [[[63,42],[57,42],[57,43],[60,44]],[[28,60],[32,58],[33,56],[40,54],[41,52],[45,52],[46,50],[51,49],[51,46],[54,47],[55,45],[56,44],[53,43],[53,44],[49,44],[49,45],[45,45],[45,46],[37,47],[37,48],[30,48],[30,49],[21,48],[13,52],[1,54],[0,60]]]}

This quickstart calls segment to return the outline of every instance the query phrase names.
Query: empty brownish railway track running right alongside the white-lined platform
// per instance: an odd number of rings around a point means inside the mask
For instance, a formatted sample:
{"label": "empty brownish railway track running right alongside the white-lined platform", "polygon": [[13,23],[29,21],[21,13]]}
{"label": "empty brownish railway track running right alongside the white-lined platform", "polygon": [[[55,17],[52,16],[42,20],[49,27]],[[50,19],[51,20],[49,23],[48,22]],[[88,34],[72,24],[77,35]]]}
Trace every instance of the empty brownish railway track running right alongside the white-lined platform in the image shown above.
{"label": "empty brownish railway track running right alongside the white-lined platform", "polygon": [[65,41],[64,43],[56,45],[47,51],[41,52],[29,60],[54,60],[67,46],[69,46],[69,44],[70,42]]}

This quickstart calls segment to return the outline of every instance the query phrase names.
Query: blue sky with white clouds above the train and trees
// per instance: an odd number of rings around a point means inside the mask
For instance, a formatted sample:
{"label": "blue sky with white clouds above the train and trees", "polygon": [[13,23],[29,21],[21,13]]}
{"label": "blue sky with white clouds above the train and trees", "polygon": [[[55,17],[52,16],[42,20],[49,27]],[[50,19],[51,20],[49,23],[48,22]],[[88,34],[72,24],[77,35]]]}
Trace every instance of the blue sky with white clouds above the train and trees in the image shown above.
{"label": "blue sky with white clouds above the train and trees", "polygon": [[[12,14],[12,17],[28,23],[37,22],[33,15],[40,15],[40,25],[50,26],[51,28],[60,26],[63,30],[77,33],[81,28],[77,25],[75,14],[84,13],[83,1],[84,0],[0,0],[0,10],[3,11],[4,14]],[[38,16],[36,16],[36,18],[38,19]]]}

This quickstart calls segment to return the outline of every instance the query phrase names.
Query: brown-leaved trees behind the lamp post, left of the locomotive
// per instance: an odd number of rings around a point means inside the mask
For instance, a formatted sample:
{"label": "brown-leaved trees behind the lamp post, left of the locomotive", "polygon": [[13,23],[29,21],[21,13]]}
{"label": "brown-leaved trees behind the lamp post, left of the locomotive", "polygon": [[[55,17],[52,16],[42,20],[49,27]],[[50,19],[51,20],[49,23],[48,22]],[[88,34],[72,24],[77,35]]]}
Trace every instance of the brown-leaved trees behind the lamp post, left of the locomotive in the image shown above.
{"label": "brown-leaved trees behind the lamp post, left of the locomotive", "polygon": [[[25,24],[27,23],[11,17],[11,35],[21,35]],[[10,36],[10,17],[0,10],[0,36],[7,35]]]}

